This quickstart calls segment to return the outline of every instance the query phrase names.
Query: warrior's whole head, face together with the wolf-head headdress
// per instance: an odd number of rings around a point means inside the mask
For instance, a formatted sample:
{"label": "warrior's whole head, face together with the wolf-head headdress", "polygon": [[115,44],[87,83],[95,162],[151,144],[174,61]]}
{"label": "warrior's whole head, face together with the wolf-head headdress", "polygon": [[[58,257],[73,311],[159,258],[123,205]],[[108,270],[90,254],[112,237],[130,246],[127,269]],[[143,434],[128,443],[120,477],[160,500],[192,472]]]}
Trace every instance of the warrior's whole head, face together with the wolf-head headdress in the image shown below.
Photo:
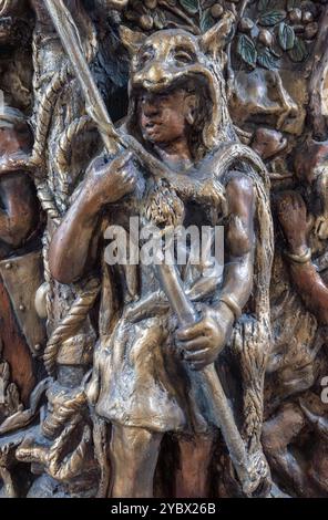
{"label": "warrior's whole head, face together with the wolf-head headdress", "polygon": [[120,29],[132,58],[130,132],[161,145],[186,138],[191,131],[187,141],[194,157],[216,146],[226,114],[224,48],[233,23],[234,17],[227,12],[203,35],[163,30],[147,37]]}

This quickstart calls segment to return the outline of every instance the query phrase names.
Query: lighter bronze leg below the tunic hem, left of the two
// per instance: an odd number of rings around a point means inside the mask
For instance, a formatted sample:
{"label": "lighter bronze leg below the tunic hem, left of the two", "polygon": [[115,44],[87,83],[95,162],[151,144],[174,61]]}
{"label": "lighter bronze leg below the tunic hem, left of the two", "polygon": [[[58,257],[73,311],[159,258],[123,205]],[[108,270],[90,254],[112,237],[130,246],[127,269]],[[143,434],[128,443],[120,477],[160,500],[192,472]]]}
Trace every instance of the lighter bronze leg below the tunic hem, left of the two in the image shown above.
{"label": "lighter bronze leg below the tunic hem, left of the two", "polygon": [[163,435],[114,425],[111,440],[113,498],[152,498]]}

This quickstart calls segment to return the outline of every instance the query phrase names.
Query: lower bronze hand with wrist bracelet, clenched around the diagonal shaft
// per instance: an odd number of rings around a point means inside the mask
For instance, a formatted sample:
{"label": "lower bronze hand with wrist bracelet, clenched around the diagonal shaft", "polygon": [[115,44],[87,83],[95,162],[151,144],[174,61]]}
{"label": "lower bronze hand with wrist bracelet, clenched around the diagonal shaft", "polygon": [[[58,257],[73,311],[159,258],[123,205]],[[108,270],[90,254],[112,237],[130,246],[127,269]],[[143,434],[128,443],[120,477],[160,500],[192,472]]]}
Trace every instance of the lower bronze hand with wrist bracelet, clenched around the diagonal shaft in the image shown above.
{"label": "lower bronze hand with wrist bracelet, clenched around the diagonal shaft", "polygon": [[214,363],[232,331],[232,320],[219,311],[204,308],[202,320],[176,331],[176,345],[192,368],[201,371]]}

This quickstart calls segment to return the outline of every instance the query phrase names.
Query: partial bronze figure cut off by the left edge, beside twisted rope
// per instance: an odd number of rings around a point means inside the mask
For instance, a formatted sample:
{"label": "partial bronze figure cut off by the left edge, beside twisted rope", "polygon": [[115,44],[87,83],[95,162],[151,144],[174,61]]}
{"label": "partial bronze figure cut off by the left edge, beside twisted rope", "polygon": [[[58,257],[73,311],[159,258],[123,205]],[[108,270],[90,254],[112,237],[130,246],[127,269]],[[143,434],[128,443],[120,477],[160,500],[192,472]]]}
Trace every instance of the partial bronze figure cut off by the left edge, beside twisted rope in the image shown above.
{"label": "partial bronze figure cut off by the left edge, beside twisted rope", "polygon": [[44,326],[34,306],[43,280],[43,218],[33,180],[24,170],[31,148],[24,116],[6,105],[0,114],[0,334],[2,355],[24,403],[35,384],[32,356],[45,345]]}

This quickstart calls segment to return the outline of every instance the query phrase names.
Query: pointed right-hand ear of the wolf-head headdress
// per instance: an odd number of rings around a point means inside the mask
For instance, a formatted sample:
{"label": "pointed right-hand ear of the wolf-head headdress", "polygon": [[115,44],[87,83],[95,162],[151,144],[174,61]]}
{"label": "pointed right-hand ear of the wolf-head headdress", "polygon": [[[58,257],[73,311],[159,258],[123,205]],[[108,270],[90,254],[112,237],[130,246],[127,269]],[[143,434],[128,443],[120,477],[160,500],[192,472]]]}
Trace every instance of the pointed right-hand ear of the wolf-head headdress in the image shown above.
{"label": "pointed right-hand ear of the wolf-head headdress", "polygon": [[219,22],[199,37],[199,46],[205,54],[211,54],[214,59],[218,58],[232,37],[235,21],[236,17],[228,11]]}

